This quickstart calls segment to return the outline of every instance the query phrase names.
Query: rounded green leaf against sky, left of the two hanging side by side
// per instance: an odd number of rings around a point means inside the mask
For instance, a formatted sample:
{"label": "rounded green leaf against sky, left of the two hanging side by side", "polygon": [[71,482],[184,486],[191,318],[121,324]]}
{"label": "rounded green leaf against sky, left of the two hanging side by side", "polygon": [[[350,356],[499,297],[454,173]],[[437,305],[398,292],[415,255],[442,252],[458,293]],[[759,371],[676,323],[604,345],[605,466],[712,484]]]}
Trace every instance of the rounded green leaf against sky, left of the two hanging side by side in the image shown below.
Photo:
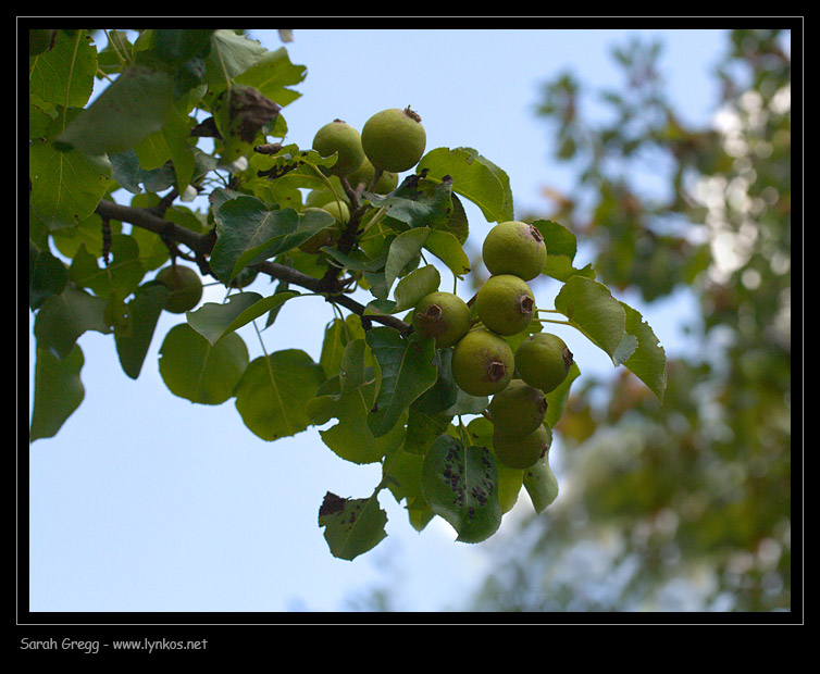
{"label": "rounded green leaf against sky, left of the two hanging side by side", "polygon": [[248,366],[248,348],[236,333],[211,345],[187,323],[172,327],[160,347],[160,374],[175,396],[222,404]]}

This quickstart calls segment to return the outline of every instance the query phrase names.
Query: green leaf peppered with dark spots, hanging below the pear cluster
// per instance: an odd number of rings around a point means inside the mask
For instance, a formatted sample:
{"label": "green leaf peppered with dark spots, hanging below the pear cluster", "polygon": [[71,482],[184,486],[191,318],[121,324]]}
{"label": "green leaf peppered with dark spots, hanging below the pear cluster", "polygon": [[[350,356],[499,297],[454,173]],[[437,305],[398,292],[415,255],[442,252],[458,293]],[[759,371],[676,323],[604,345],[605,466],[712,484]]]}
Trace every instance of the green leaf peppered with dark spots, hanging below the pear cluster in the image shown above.
{"label": "green leaf peppered with dark spots, hanging below the pear cluster", "polygon": [[465,448],[450,435],[438,437],[424,457],[422,492],[456,529],[457,540],[481,542],[501,525],[498,471],[486,447]]}

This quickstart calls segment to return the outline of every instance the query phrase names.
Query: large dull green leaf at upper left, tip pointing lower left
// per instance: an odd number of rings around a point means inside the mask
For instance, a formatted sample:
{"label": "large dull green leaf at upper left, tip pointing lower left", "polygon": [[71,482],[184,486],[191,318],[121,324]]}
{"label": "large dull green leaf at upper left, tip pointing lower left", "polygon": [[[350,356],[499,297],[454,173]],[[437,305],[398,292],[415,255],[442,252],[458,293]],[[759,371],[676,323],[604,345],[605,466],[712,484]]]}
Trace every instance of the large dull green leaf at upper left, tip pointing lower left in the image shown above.
{"label": "large dull green leaf at upper left, tip pointing lower left", "polygon": [[58,149],[87,154],[124,152],[165,125],[174,82],[164,72],[132,65],[58,136]]}

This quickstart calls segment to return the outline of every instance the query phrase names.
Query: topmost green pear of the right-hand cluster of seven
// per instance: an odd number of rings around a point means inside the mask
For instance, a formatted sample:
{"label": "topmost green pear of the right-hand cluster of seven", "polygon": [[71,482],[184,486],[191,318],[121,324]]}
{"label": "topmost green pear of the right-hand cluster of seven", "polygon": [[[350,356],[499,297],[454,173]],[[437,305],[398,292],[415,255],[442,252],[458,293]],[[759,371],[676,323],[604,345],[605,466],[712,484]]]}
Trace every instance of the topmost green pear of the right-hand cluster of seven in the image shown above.
{"label": "topmost green pear of the right-hand cluster of seven", "polygon": [[536,227],[510,220],[489,230],[484,238],[482,257],[490,274],[513,274],[532,280],[544,270],[547,246]]}

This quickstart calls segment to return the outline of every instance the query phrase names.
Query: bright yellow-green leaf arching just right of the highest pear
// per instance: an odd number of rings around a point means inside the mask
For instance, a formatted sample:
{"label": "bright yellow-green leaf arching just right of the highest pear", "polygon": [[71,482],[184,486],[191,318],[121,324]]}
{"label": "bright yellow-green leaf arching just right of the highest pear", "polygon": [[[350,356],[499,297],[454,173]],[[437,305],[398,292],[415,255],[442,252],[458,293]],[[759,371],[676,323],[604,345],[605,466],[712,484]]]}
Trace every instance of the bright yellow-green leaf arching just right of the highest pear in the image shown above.
{"label": "bright yellow-green leaf arching just right of the highest pear", "polygon": [[513,219],[512,192],[507,174],[472,148],[436,148],[421,158],[417,173],[428,178],[452,178],[452,191],[477,205],[487,222]]}

